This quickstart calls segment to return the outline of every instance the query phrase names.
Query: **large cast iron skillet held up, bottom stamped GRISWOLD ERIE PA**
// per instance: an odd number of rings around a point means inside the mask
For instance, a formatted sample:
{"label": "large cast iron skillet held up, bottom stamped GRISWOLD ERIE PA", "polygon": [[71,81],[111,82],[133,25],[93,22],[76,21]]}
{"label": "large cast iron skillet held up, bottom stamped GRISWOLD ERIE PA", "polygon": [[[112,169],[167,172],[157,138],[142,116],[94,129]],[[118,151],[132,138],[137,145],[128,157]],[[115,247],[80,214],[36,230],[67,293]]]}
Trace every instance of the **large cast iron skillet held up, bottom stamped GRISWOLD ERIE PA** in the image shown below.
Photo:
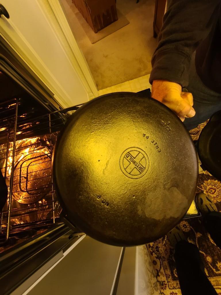
{"label": "large cast iron skillet held up, bottom stamped GRISWOLD ERIE PA", "polygon": [[189,209],[197,186],[196,151],[180,119],[129,92],[81,106],[60,133],[52,161],[67,220],[111,245],[165,235]]}

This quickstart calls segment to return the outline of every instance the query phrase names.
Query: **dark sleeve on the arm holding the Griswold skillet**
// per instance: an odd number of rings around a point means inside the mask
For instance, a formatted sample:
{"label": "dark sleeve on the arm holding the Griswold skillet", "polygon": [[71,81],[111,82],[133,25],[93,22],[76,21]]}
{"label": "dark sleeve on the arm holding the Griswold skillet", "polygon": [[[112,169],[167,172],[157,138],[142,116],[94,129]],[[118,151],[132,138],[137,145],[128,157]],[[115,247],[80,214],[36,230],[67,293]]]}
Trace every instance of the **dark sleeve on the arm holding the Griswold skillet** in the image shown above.
{"label": "dark sleeve on the arm holding the Griswold skillet", "polygon": [[150,83],[188,85],[191,56],[217,23],[220,0],[170,0],[152,57]]}

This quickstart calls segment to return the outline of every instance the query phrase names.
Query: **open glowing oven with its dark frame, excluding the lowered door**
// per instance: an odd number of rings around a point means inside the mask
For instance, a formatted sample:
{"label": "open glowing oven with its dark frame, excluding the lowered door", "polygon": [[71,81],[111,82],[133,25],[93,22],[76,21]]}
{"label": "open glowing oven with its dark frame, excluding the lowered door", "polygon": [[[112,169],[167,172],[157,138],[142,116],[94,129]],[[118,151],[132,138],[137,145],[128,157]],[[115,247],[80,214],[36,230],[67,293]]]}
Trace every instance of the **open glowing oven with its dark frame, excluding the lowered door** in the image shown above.
{"label": "open glowing oven with its dark frame, excluding the lowered door", "polygon": [[83,233],[61,221],[51,176],[56,137],[77,107],[59,111],[50,91],[1,42],[0,169],[8,195],[0,213],[0,294],[10,294]]}

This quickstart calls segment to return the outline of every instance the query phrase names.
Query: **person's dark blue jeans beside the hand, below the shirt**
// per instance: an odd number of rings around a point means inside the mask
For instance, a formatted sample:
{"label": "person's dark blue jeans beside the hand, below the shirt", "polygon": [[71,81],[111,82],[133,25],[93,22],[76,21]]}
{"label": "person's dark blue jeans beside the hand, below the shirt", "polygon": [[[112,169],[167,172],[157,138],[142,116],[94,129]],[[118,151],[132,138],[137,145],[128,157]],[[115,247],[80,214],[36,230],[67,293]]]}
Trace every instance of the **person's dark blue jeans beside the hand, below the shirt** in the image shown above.
{"label": "person's dark blue jeans beside the hand, below the shirt", "polygon": [[194,117],[187,118],[184,121],[187,129],[191,130],[209,119],[212,114],[221,110],[221,94],[207,88],[196,73],[195,54],[192,58],[187,89],[193,95],[193,107],[196,111]]}

